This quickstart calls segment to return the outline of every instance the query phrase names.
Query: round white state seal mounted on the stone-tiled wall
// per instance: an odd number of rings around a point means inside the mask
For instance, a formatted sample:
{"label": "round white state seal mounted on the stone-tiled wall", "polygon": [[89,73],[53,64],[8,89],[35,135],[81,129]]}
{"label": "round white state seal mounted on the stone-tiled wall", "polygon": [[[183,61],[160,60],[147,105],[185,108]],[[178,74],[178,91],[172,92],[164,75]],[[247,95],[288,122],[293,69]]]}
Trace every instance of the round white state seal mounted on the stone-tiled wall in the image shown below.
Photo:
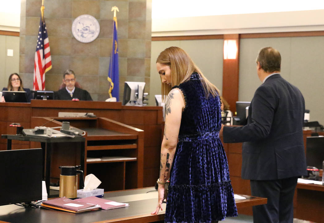
{"label": "round white state seal mounted on the stone-tiled wall", "polygon": [[72,23],[72,34],[75,39],[83,43],[95,40],[100,32],[98,20],[90,15],[81,15]]}

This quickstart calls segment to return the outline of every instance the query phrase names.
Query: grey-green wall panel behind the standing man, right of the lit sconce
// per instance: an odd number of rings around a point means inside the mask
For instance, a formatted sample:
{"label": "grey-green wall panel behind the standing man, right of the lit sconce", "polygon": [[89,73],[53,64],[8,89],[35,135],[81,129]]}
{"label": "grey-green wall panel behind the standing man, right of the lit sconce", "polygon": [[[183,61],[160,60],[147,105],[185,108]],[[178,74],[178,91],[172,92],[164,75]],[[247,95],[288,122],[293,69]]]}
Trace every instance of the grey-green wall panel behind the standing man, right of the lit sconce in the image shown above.
{"label": "grey-green wall panel behind the standing man, right of the lit sconce", "polygon": [[261,84],[256,74],[255,59],[258,51],[266,46],[279,50],[282,76],[297,86],[304,95],[306,109],[310,110],[310,121],[318,121],[323,125],[323,36],[241,39],[239,100],[251,101]]}

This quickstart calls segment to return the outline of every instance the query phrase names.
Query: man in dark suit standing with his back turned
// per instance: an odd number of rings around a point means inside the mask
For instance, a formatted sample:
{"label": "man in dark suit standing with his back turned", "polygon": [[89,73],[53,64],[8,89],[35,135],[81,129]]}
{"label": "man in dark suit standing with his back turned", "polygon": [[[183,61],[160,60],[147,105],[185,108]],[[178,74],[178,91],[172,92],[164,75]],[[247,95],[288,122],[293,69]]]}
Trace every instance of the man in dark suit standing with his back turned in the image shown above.
{"label": "man in dark suit standing with his back turned", "polygon": [[247,125],[224,127],[224,142],[244,142],[242,178],[251,194],[268,198],[253,206],[253,222],[293,222],[298,177],[307,175],[303,142],[305,102],[297,87],[280,75],[281,56],[272,47],[260,50],[261,84],[249,106]]}

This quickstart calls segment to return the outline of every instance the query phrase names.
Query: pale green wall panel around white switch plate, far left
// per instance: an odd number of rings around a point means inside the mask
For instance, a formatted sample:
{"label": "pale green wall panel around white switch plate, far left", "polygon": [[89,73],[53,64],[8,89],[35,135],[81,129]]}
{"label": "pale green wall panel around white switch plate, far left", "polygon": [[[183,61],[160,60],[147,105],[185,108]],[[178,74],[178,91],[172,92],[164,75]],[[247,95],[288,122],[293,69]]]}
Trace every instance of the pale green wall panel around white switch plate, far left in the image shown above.
{"label": "pale green wall panel around white switch plate, far left", "polygon": [[[14,50],[14,56],[7,56],[7,49]],[[0,83],[2,90],[7,87],[11,73],[19,72],[19,37],[0,35]]]}

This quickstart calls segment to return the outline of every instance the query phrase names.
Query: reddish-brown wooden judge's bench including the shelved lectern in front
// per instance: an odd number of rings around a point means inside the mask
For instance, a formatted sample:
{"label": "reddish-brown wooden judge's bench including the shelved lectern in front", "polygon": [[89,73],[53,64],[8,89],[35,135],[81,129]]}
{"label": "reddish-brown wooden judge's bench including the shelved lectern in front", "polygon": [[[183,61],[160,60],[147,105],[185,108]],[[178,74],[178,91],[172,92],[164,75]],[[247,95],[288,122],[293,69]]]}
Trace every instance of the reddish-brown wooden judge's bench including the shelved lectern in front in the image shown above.
{"label": "reddish-brown wooden judge's bench including the shelved lectern in front", "polygon": [[[59,112],[93,113],[96,118],[63,118]],[[0,134],[16,134],[11,123],[26,128],[44,125],[70,126],[86,131],[85,173],[95,174],[105,191],[154,186],[159,174],[162,107],[122,106],[121,102],[31,100],[31,103],[0,103]],[[143,131],[144,130],[144,131]],[[12,149],[41,148],[39,142],[12,140]],[[59,180],[58,166],[79,165],[75,143],[52,146],[51,182]],[[7,140],[0,139],[0,150]],[[135,160],[87,162],[90,157],[125,156]]]}

